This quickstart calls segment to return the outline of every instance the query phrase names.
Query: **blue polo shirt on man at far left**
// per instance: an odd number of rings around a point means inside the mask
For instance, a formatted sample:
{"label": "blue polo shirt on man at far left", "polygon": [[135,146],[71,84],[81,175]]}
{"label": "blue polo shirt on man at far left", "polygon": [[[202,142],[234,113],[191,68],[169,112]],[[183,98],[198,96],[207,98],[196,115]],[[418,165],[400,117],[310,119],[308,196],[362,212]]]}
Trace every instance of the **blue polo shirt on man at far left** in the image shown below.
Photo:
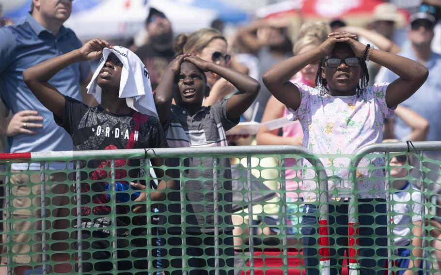
{"label": "blue polo shirt on man at far left", "polygon": [[[0,28],[0,95],[5,105],[14,113],[37,110],[43,117],[43,129],[35,136],[16,135],[8,138],[6,152],[71,151],[72,139],[59,127],[47,110],[23,82],[23,71],[32,65],[60,56],[82,46],[75,33],[63,26],[54,36],[28,14],[26,19],[13,26]],[[79,83],[90,73],[87,62],[75,63],[56,74],[49,83],[64,95],[81,100]],[[51,165],[51,168],[63,166]],[[64,165],[65,167],[65,165]],[[16,170],[27,169],[26,164],[16,164]],[[31,166],[38,170],[39,165]]]}

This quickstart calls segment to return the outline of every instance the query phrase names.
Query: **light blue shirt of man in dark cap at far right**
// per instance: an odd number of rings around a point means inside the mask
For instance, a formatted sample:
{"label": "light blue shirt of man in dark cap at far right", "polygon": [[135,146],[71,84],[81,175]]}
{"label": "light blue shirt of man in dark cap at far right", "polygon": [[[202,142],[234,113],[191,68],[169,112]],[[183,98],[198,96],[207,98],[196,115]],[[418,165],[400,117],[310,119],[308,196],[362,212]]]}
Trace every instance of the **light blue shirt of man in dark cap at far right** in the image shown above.
{"label": "light blue shirt of man in dark cap at far right", "polygon": [[[411,49],[400,53],[400,55],[418,61]],[[401,105],[414,110],[429,122],[427,140],[441,140],[441,55],[432,52],[430,59],[423,65],[429,69],[427,80],[418,91]],[[398,76],[392,71],[382,67],[375,78],[375,82],[392,82],[397,78]],[[411,129],[398,116],[395,118],[395,135],[400,139],[405,138],[410,134]],[[440,152],[429,154],[441,157]]]}

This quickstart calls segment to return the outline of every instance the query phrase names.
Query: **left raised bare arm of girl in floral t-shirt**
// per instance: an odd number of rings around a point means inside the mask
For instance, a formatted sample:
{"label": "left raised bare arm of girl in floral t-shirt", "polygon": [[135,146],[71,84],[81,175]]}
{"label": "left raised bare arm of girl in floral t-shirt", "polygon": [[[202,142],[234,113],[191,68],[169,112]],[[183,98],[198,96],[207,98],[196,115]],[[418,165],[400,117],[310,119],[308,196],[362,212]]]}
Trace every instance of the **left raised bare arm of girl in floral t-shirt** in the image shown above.
{"label": "left raised bare arm of girl in floral t-shirt", "polygon": [[350,33],[337,33],[328,37],[320,46],[273,65],[262,76],[268,91],[287,107],[297,110],[301,101],[300,92],[289,80],[309,63],[330,54],[335,43],[346,42],[350,38],[356,36]]}

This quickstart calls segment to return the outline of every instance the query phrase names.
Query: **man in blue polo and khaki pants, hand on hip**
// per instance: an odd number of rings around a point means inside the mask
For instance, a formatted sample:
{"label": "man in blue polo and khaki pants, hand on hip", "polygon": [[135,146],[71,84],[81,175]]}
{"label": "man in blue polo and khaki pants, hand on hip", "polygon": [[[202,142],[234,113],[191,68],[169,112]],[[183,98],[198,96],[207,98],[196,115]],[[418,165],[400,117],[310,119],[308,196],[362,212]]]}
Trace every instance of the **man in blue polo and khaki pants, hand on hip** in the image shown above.
{"label": "man in blue polo and khaki pants, hand on hip", "polygon": [[[52,113],[47,110],[29,91],[26,84],[23,82],[22,73],[25,69],[70,52],[82,46],[81,42],[75,33],[63,27],[63,23],[69,18],[72,10],[72,0],[32,0],[31,12],[26,18],[13,26],[7,26],[0,29],[0,95],[6,107],[8,107],[14,114],[22,110],[35,110],[38,115],[43,117],[43,127],[35,128],[35,135],[18,134],[9,137],[7,141],[6,152],[42,152],[42,151],[71,151],[72,139],[63,130],[57,126]],[[55,86],[63,94],[72,98],[81,100],[86,104],[91,104],[90,95],[86,95],[85,86],[90,81],[92,76],[90,66],[88,63],[76,63],[54,76],[49,83]],[[80,93],[80,91],[83,91]],[[32,121],[24,121],[21,127],[29,128],[32,126]],[[41,123],[41,122],[38,122]],[[52,163],[50,169],[65,168],[65,164]],[[27,164],[13,164],[12,170],[23,171],[28,169]],[[29,167],[29,170],[35,170],[34,174],[14,174],[9,178],[9,182],[17,184],[11,188],[13,194],[18,198],[11,201],[11,205],[15,207],[27,207],[29,205],[28,196],[30,194],[38,194],[34,188],[27,187],[31,183],[38,183],[40,180],[39,164],[34,164]],[[55,172],[55,171],[54,171]],[[52,173],[50,181],[62,183],[66,180],[64,173]],[[51,185],[51,194],[65,194],[67,193],[67,185],[58,184]],[[60,190],[54,190],[60,189]],[[39,187],[38,187],[39,188]],[[37,189],[37,188],[36,188]],[[50,205],[63,205],[61,196],[51,198]],[[57,204],[59,203],[59,204]],[[34,201],[32,201],[32,205]],[[64,212],[69,214],[67,208],[59,207]],[[54,209],[51,211],[52,217],[61,217],[61,211]],[[17,219],[14,222],[14,229],[16,231],[28,231],[34,229],[29,223],[29,210],[18,210],[14,212],[14,217]],[[49,215],[49,216],[50,216]],[[52,228],[56,227],[52,224]],[[9,251],[13,253],[12,261],[15,263],[28,263],[26,265],[35,265],[41,261],[41,254],[29,251],[35,251],[35,247],[27,244],[34,240],[35,236],[30,233],[11,235],[11,242],[9,243]],[[37,237],[38,238],[38,237]],[[51,236],[53,239],[53,236]],[[60,240],[60,239],[59,239]],[[35,241],[35,240],[34,240]],[[65,241],[64,241],[65,242]],[[21,243],[21,244],[16,244]],[[54,244],[54,242],[51,242]],[[14,245],[14,247],[13,247]],[[65,245],[62,243],[58,244]],[[37,245],[38,246],[38,245]],[[39,245],[41,246],[41,245]],[[53,247],[53,246],[52,246]],[[48,248],[49,251],[52,249]],[[67,249],[64,248],[64,249]],[[57,249],[56,249],[57,250]],[[61,249],[63,250],[63,249]],[[6,248],[3,247],[3,253]],[[37,250],[41,251],[41,250]],[[27,255],[16,255],[19,253],[28,253],[32,255],[32,259]],[[49,253],[50,255],[50,253]],[[2,263],[6,262],[6,257],[2,257]],[[31,261],[31,262],[30,262]],[[26,267],[16,268],[16,274],[24,272]]]}

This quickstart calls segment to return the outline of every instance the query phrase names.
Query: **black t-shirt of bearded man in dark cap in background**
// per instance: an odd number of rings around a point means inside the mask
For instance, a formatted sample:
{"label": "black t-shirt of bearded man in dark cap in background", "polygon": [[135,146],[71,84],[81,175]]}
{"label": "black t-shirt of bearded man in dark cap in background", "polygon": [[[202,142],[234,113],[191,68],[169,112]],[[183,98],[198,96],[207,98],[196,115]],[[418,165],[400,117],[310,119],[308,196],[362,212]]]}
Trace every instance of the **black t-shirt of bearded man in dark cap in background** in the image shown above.
{"label": "black t-shirt of bearded man in dark cap in background", "polygon": [[152,89],[155,90],[162,75],[165,72],[170,61],[174,58],[174,51],[172,48],[165,50],[157,50],[152,45],[146,44],[135,51],[135,54],[144,63],[150,75],[150,82]]}

